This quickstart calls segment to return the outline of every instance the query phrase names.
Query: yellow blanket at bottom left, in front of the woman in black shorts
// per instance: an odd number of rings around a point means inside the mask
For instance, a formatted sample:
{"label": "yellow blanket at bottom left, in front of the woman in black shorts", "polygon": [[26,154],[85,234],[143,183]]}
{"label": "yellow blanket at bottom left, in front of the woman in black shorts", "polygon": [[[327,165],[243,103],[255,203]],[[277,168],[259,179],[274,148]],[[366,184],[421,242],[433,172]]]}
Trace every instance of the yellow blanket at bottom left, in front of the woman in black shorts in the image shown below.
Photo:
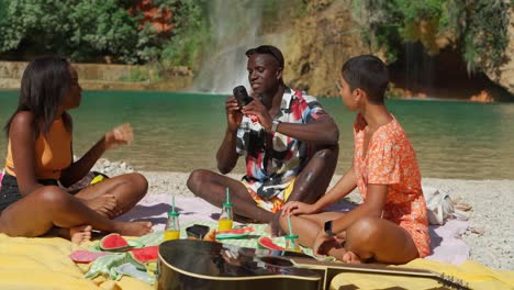
{"label": "yellow blanket at bottom left, in front of the woman in black shorts", "polygon": [[68,257],[77,246],[60,237],[0,234],[0,289],[153,289],[137,279],[87,280]]}

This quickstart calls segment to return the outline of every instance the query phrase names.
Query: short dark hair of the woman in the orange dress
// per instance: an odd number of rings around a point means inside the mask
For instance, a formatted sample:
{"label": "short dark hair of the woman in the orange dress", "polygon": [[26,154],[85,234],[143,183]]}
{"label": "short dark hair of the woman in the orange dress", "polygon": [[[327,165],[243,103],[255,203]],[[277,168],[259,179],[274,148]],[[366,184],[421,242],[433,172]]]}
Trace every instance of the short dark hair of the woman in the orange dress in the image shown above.
{"label": "short dark hair of the woman in the orange dress", "polygon": [[368,100],[375,104],[384,102],[389,72],[386,64],[373,55],[360,55],[348,59],[340,74],[351,90],[366,91]]}

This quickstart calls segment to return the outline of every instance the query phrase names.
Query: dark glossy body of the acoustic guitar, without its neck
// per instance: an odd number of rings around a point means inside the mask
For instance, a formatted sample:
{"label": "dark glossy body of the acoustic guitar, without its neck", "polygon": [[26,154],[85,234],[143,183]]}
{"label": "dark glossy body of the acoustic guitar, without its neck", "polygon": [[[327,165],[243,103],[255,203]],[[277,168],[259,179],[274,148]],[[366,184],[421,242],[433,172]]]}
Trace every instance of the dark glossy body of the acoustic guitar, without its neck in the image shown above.
{"label": "dark glossy body of the acoustic guitar, without its neck", "polygon": [[[157,289],[322,289],[322,277],[297,268],[283,252],[175,239],[159,246]],[[294,254],[288,254],[294,256]]]}

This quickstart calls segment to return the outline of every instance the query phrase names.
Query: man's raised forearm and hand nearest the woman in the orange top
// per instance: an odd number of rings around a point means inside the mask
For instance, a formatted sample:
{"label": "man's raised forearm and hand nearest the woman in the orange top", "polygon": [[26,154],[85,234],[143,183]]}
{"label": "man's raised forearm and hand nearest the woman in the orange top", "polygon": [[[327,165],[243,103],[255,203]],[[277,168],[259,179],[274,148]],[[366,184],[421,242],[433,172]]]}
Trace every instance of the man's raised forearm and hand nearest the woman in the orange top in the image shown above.
{"label": "man's raised forearm and hand nearest the woman in the orange top", "polygon": [[225,101],[226,112],[226,131],[220,148],[216,154],[217,170],[225,175],[234,169],[239,157],[236,152],[237,129],[239,127],[243,114],[241,113],[239,104],[234,96],[231,96]]}

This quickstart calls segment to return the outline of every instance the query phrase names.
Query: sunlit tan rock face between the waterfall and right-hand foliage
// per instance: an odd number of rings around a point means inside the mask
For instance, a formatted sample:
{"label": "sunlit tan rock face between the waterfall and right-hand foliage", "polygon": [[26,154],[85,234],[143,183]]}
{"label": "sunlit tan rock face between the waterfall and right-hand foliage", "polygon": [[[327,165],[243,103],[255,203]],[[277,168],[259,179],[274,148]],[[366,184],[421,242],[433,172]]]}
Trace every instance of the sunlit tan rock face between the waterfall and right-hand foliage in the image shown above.
{"label": "sunlit tan rock face between the waterfall and right-hand foliage", "polygon": [[286,23],[280,33],[265,35],[282,49],[289,86],[335,97],[343,63],[370,53],[349,7],[350,1],[312,1],[306,16]]}

